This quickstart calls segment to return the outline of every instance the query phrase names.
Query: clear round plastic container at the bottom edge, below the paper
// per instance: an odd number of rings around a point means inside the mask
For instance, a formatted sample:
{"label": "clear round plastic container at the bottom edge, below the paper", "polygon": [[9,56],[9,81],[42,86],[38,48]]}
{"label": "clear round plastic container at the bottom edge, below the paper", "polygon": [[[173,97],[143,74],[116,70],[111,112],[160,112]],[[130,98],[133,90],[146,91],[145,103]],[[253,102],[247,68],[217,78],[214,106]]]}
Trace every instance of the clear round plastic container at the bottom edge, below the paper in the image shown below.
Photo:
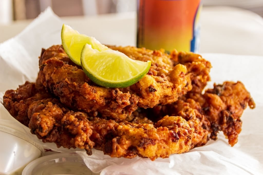
{"label": "clear round plastic container at the bottom edge, below the paper", "polygon": [[22,175],[93,175],[77,153],[56,153],[40,157],[24,168]]}

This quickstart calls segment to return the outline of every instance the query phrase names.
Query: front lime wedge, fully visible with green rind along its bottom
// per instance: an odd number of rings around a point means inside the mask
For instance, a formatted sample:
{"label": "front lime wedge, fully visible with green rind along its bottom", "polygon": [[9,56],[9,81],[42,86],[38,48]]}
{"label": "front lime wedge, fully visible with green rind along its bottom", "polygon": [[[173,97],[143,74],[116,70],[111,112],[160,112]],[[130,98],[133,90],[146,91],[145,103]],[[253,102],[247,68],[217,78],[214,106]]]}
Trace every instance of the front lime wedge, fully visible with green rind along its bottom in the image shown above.
{"label": "front lime wedge, fully visible with green rind along its bottom", "polygon": [[109,88],[124,88],[143,78],[151,67],[151,61],[133,60],[115,50],[98,51],[85,44],[81,65],[94,83]]}

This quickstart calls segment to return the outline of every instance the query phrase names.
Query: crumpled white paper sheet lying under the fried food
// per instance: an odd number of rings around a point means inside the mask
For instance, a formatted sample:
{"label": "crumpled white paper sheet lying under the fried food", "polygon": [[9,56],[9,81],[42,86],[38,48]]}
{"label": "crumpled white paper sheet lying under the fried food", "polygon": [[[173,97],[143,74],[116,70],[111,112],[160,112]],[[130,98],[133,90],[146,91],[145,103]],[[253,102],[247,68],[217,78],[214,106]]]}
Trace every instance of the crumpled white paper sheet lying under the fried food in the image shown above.
{"label": "crumpled white paper sheet lying under the fried food", "polygon": [[[38,73],[38,56],[42,48],[60,44],[62,21],[50,8],[45,10],[24,31],[0,45],[0,100],[7,89],[16,89],[26,80],[35,81]],[[107,30],[107,29],[105,29]],[[89,35],[88,33],[86,33]],[[113,40],[114,41],[114,40]],[[114,44],[114,43],[112,43]],[[133,159],[111,158],[103,152],[93,150],[87,156],[84,150],[57,149],[52,143],[43,144],[30,134],[27,127],[19,122],[29,135],[45,148],[59,152],[77,151],[86,165],[95,173],[109,174],[262,174],[263,173],[263,57],[224,54],[203,54],[211,61],[212,82],[226,80],[242,81],[256,102],[256,109],[245,110],[242,132],[238,143],[231,147],[222,133],[218,140],[209,141],[183,154],[158,158],[155,161],[135,157]],[[213,83],[210,83],[211,87]],[[14,120],[0,104],[0,119]]]}

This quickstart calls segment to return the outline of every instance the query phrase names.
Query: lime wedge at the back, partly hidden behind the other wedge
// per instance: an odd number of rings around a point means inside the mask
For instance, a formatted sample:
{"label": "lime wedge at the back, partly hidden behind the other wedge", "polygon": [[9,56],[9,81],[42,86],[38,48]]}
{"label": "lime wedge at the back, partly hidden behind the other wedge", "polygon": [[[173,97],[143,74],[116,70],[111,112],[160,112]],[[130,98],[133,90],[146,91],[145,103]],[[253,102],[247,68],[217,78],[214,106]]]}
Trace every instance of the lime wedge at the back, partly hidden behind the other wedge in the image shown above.
{"label": "lime wedge at the back, partly hidden behind the other wedge", "polygon": [[61,29],[61,41],[66,54],[69,58],[76,63],[80,64],[80,53],[85,44],[90,44],[92,49],[98,51],[108,50],[109,48],[101,44],[93,37],[79,34],[77,30],[72,29],[70,26],[63,24]]}

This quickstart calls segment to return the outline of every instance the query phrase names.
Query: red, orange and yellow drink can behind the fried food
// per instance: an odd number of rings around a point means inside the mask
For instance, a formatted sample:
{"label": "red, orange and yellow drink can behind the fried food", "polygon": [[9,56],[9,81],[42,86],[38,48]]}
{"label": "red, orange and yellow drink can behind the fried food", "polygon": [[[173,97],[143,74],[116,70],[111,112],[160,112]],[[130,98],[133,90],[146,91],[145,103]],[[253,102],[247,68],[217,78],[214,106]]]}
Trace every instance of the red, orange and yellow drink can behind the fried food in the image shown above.
{"label": "red, orange and yellow drink can behind the fried food", "polygon": [[137,47],[199,52],[201,0],[138,0]]}

